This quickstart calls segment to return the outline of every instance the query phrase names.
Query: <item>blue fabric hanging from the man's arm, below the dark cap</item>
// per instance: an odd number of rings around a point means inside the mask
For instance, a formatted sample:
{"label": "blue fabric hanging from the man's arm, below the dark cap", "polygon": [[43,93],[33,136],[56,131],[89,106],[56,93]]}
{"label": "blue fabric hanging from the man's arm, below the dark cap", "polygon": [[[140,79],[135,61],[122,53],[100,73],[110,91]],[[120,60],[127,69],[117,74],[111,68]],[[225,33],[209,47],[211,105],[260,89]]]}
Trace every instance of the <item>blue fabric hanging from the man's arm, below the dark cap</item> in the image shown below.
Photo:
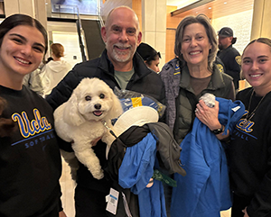
{"label": "blue fabric hanging from the man's arm, below the dark cap", "polygon": [[143,140],[126,148],[118,169],[118,184],[138,194],[140,216],[166,217],[162,183],[154,180],[152,187],[146,187],[154,174],[155,158],[156,140],[150,132]]}

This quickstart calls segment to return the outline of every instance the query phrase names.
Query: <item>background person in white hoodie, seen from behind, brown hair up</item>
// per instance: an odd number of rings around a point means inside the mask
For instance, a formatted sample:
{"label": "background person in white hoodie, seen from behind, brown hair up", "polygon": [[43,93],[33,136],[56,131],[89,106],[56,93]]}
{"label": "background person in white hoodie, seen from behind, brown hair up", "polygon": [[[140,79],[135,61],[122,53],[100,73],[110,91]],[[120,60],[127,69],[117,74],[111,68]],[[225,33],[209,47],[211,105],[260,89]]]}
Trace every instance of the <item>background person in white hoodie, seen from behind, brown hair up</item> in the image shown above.
{"label": "background person in white hoodie, seen from behind, brown hair up", "polygon": [[41,73],[44,96],[50,95],[52,88],[57,86],[72,68],[68,62],[62,59],[64,47],[61,43],[51,44],[51,57],[52,60],[42,68]]}

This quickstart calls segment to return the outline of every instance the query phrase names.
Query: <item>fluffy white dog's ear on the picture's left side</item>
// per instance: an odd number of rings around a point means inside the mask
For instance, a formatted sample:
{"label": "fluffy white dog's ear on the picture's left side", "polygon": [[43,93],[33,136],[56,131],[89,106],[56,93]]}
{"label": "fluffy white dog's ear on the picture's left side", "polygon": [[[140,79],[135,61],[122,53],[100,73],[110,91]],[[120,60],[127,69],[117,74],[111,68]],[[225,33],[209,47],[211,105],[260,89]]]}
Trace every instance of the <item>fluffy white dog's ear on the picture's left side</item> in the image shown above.
{"label": "fluffy white dog's ear on the picture's left side", "polygon": [[83,122],[86,122],[85,118],[79,113],[78,104],[77,95],[75,91],[73,91],[63,112],[64,122],[74,126],[79,126]]}

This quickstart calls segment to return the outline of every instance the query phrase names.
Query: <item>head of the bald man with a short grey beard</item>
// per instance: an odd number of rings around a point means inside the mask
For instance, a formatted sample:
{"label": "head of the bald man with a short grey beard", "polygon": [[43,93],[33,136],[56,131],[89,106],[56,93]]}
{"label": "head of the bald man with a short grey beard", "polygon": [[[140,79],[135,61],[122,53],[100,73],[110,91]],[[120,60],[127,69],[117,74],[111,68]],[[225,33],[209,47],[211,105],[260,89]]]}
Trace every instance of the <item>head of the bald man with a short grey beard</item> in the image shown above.
{"label": "head of the bald man with a short grey beard", "polygon": [[132,10],[125,7],[114,10],[107,19],[106,27],[101,29],[101,34],[114,67],[119,63],[132,63],[142,37]]}

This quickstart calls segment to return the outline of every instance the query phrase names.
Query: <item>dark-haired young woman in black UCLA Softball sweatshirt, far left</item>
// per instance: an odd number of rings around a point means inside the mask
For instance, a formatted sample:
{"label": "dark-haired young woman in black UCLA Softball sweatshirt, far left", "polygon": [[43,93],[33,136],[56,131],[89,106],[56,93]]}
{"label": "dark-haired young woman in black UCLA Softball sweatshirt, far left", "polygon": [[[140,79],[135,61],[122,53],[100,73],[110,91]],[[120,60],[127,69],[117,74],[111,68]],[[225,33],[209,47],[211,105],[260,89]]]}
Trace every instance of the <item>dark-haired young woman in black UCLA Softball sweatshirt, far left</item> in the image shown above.
{"label": "dark-haired young woman in black UCLA Softball sweatshirt, far left", "polygon": [[14,14],[0,24],[0,216],[66,216],[61,155],[51,106],[23,86],[47,50],[37,20]]}

